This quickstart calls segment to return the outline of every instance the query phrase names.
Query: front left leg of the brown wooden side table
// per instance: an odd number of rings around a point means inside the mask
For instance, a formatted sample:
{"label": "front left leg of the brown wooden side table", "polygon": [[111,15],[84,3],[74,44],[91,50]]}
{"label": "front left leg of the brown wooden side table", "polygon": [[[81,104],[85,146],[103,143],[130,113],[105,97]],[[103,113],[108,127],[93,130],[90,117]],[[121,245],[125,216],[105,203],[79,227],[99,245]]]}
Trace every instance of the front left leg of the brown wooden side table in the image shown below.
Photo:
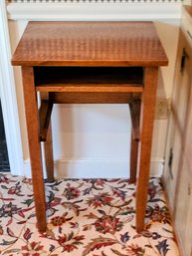
{"label": "front left leg of the brown wooden side table", "polygon": [[23,87],[25,99],[26,121],[28,129],[28,142],[32,168],[34,201],[36,207],[37,225],[40,231],[46,230],[46,202],[42,171],[41,145],[39,134],[39,120],[37,98],[34,85],[32,67],[23,67]]}

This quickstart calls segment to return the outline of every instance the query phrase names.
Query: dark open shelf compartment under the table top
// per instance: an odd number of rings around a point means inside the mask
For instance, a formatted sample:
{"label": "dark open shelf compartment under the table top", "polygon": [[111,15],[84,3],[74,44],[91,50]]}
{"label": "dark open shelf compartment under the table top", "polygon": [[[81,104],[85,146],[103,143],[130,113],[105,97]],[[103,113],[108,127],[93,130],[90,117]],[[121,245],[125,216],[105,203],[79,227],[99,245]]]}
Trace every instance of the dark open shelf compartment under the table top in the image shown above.
{"label": "dark open shelf compartment under the table top", "polygon": [[34,67],[40,92],[142,92],[141,67]]}

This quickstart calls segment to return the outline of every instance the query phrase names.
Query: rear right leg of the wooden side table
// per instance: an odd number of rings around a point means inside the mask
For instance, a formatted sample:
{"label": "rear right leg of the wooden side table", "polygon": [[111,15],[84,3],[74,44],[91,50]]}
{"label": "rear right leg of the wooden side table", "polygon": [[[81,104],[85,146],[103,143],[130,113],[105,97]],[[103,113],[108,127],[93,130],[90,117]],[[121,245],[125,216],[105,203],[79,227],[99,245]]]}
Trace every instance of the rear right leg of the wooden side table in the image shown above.
{"label": "rear right leg of the wooden side table", "polygon": [[140,100],[135,99],[129,103],[130,117],[132,123],[131,145],[130,145],[130,182],[135,182],[138,162],[138,144],[139,144],[139,119],[140,119]]}

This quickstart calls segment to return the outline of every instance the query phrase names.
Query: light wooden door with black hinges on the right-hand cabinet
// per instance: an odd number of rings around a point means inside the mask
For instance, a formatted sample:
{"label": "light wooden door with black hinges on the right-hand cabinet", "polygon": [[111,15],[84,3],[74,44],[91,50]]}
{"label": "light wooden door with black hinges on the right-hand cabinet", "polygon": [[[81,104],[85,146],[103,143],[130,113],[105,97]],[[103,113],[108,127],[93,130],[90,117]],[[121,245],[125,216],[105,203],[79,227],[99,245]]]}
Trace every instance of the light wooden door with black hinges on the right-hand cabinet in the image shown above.
{"label": "light wooden door with black hinges on the right-hand cabinet", "polygon": [[171,102],[171,115],[167,142],[164,178],[170,197],[171,208],[175,208],[175,196],[179,173],[181,172],[186,122],[188,119],[189,96],[192,80],[192,50],[184,33],[180,31],[175,80]]}

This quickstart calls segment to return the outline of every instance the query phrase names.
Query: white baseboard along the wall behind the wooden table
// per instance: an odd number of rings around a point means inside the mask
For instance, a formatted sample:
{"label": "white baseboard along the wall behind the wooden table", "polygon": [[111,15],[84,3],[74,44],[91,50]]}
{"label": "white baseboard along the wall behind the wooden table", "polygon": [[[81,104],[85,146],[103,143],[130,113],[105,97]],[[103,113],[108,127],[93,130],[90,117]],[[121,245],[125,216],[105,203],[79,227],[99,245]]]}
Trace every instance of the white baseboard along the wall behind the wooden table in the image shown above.
{"label": "white baseboard along the wall behind the wooden table", "polygon": [[[31,177],[30,159],[24,161],[24,176]],[[162,175],[164,159],[152,158],[150,176]],[[45,172],[45,171],[44,171]],[[63,158],[55,161],[55,176],[63,178],[127,178],[129,160],[125,157]]]}

